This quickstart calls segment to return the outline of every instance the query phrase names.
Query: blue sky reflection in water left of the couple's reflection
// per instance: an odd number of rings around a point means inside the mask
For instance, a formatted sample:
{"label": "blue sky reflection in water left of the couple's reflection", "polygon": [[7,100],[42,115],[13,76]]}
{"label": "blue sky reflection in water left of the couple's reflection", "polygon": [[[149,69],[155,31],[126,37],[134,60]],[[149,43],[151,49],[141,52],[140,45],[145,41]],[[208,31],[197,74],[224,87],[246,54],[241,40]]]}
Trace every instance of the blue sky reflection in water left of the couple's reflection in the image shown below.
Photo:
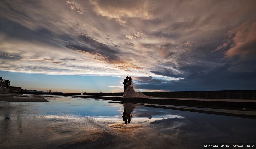
{"label": "blue sky reflection in water left of the couple's reflection", "polygon": [[83,98],[50,98],[48,106],[40,106],[41,114],[74,114],[77,116],[113,116],[120,115],[121,104],[107,103]]}

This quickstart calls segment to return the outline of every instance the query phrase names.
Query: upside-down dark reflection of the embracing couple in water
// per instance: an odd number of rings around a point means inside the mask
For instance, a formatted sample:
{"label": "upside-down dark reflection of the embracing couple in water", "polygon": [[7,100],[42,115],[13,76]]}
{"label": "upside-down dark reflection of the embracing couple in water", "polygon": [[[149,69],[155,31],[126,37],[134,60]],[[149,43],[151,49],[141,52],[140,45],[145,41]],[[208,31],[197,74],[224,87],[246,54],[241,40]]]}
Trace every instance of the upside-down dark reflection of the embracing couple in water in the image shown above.
{"label": "upside-down dark reflection of the embracing couple in water", "polygon": [[124,104],[124,112],[123,112],[123,121],[125,121],[125,124],[130,123],[134,114],[133,110],[135,109],[136,104],[133,103],[123,103]]}

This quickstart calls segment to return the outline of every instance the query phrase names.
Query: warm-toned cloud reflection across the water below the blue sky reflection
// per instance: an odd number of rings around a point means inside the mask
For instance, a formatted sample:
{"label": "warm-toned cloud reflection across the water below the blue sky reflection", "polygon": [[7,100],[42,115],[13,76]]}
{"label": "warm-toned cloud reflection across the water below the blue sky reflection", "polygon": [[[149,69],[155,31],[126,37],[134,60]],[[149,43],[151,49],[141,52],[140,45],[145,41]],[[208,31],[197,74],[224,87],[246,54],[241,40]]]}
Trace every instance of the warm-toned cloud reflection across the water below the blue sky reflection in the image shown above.
{"label": "warm-toned cloud reflection across the water below the blue sky reflection", "polygon": [[[143,144],[138,142],[138,138],[141,137],[141,133],[147,134],[147,131],[150,130],[150,122],[180,118],[178,115],[166,115],[151,119],[134,117],[132,123],[126,125],[121,117],[117,116],[26,115],[21,118],[22,135],[14,135],[18,133],[16,131],[10,132],[8,135],[11,135],[13,140],[10,140],[11,142],[8,144],[2,144],[2,146],[8,145],[12,148],[22,144],[25,148],[47,148],[49,146],[53,148],[121,148],[123,144],[126,144],[127,148],[141,148]],[[11,117],[11,119],[13,122],[9,127],[14,127],[12,129],[16,130],[15,118]],[[31,141],[36,144],[31,145]]]}

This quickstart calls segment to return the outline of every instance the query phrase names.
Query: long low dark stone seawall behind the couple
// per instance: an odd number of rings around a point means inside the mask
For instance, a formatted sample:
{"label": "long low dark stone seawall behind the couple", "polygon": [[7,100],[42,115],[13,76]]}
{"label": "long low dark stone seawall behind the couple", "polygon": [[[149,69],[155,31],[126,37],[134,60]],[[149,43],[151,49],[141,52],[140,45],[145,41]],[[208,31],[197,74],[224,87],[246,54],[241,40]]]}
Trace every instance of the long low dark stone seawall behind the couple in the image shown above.
{"label": "long low dark stone seawall behind the couple", "polygon": [[[147,96],[167,98],[256,99],[256,90],[218,90],[181,92],[143,92]],[[88,96],[123,96],[124,93],[83,93]]]}

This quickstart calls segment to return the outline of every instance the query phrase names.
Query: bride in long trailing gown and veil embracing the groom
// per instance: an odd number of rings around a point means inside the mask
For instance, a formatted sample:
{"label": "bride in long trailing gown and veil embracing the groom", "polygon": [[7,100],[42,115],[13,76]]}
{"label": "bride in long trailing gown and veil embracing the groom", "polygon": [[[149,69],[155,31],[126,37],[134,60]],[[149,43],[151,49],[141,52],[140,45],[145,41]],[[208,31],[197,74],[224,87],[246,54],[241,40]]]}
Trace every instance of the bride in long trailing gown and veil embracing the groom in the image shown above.
{"label": "bride in long trailing gown and veil embracing the groom", "polygon": [[142,92],[135,92],[135,90],[133,89],[133,82],[132,82],[132,78],[129,77],[129,81],[125,84],[126,90],[124,92],[123,97],[133,97],[133,98],[153,98],[150,96],[145,95]]}

